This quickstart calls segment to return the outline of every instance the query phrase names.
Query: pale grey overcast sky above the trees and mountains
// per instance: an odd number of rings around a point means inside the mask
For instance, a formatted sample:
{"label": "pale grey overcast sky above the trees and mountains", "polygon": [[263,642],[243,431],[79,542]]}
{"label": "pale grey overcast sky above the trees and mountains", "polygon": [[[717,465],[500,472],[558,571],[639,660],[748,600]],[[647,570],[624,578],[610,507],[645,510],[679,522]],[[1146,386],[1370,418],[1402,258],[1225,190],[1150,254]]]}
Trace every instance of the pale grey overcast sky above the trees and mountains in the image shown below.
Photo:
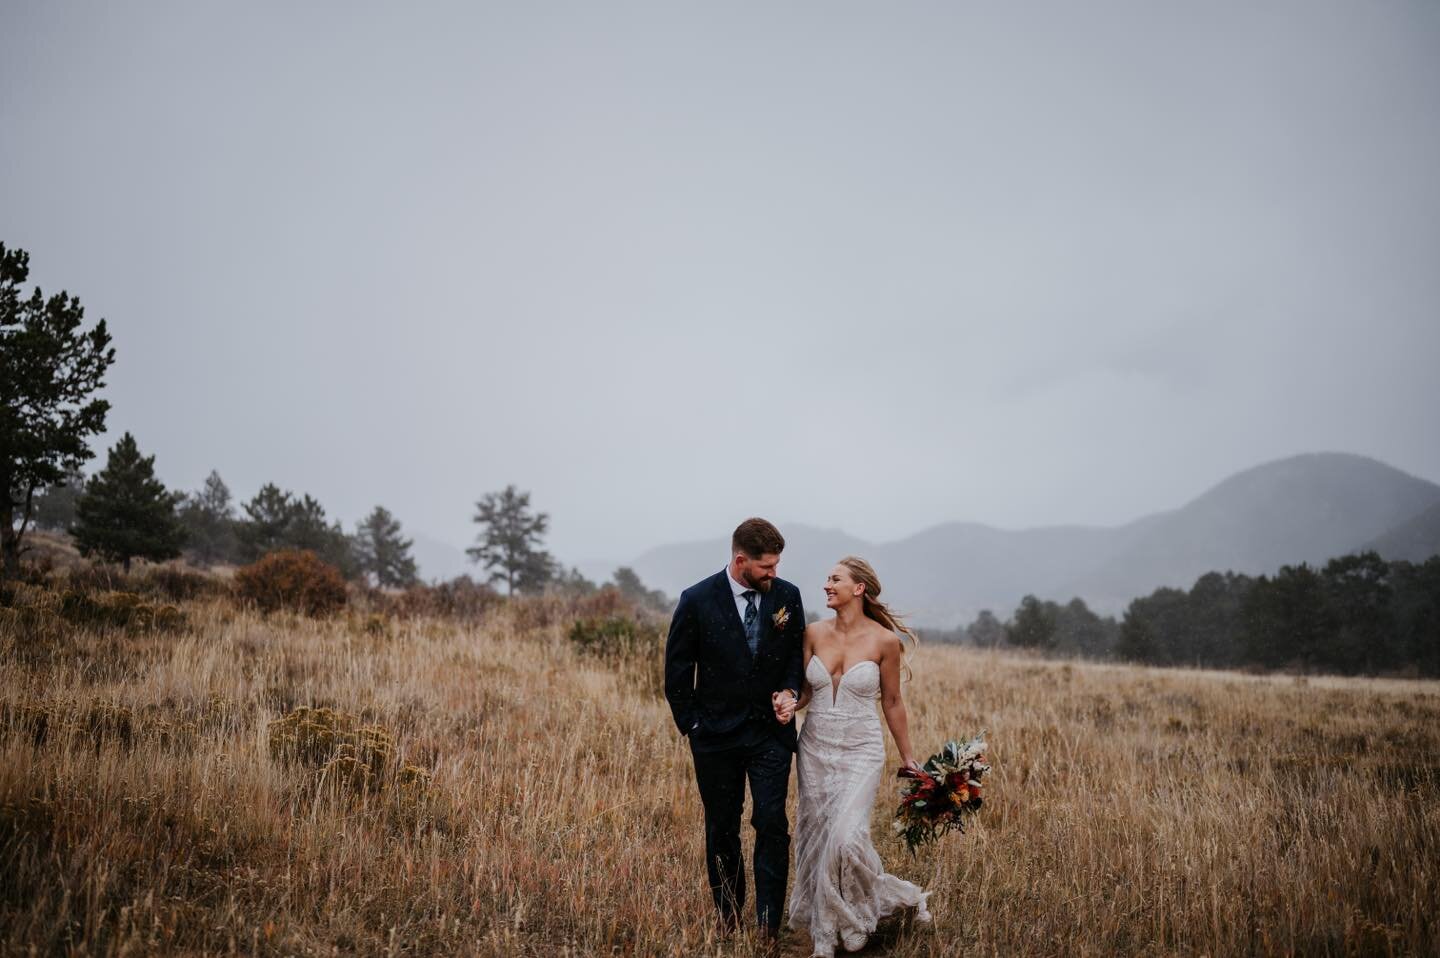
{"label": "pale grey overcast sky above the trees and mountains", "polygon": [[180,488],[576,562],[1440,480],[1431,0],[0,16],[0,241]]}

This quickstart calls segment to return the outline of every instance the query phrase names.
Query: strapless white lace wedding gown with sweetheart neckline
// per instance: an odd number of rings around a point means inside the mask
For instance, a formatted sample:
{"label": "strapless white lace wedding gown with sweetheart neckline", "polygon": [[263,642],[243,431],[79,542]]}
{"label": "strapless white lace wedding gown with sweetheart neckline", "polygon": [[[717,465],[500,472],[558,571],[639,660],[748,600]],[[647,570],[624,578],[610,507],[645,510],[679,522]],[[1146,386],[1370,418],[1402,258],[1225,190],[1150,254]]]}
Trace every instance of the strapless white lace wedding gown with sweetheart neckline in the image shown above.
{"label": "strapless white lace wedding gown with sweetheart neckline", "polygon": [[818,655],[805,666],[811,702],[801,728],[799,808],[791,928],[809,931],[814,954],[864,948],[876,923],[903,908],[929,921],[920,886],[887,874],[870,843],[870,808],[886,774],[886,740],[876,713],[880,666],[860,661],[840,687]]}

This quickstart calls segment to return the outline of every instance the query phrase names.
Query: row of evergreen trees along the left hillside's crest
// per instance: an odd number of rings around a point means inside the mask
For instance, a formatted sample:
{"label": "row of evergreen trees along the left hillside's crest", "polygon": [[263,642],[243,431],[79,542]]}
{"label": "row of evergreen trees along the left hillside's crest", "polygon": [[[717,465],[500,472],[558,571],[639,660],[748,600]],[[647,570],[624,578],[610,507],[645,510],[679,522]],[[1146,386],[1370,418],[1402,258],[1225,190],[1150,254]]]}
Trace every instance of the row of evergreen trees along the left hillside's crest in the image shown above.
{"label": "row of evergreen trees along the left hillside's crest", "polygon": [[[164,562],[186,555],[202,566],[248,563],[278,550],[308,550],[351,581],[405,588],[418,582],[400,520],[376,506],[353,532],[325,514],[308,493],[266,483],[236,504],[212,471],[202,488],[180,493],[156,475],[125,432],[105,467],[86,477],[89,439],[105,429],[109,402],[98,398],[115,362],[105,320],[85,324],[85,310],[68,292],[24,295],[30,256],[0,243],[0,582],[19,575],[32,527],[69,533],[81,555],[121,565]],[[487,582],[507,594],[553,588],[595,591],[576,569],[544,549],[549,516],[530,494],[507,485],[475,503],[480,526],[469,559]],[[615,586],[642,605],[665,605],[629,569]]]}

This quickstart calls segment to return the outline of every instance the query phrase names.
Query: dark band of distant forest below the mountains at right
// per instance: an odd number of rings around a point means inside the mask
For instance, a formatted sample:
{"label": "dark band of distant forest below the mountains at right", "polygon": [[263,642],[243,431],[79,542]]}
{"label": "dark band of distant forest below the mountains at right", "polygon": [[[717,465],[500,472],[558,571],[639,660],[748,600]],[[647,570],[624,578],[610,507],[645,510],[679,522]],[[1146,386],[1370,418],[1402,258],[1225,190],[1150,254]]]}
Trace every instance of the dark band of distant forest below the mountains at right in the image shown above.
{"label": "dark band of distant forest below the mountains at right", "polygon": [[1152,666],[1440,677],[1440,556],[1362,552],[1273,576],[1211,572],[1189,591],[1135,599],[1119,622],[1081,599],[1027,595],[1007,622],[984,611],[929,637]]}

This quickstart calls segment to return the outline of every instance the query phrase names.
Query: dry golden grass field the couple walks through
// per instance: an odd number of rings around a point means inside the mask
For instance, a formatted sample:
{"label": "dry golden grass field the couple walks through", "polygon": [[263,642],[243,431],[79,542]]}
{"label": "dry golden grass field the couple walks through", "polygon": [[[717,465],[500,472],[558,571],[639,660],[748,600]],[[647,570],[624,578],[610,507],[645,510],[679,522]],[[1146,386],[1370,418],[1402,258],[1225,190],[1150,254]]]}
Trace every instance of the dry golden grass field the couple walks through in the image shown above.
{"label": "dry golden grass field the couple walks through", "polygon": [[[573,609],[180,611],[0,619],[6,954],[753,952],[710,936],[652,666],[576,653]],[[995,768],[979,825],[914,859],[878,797],[936,925],[865,954],[1440,948],[1440,686],[935,645],[914,673],[916,742],[985,726]],[[331,712],[272,728],[300,706]]]}

